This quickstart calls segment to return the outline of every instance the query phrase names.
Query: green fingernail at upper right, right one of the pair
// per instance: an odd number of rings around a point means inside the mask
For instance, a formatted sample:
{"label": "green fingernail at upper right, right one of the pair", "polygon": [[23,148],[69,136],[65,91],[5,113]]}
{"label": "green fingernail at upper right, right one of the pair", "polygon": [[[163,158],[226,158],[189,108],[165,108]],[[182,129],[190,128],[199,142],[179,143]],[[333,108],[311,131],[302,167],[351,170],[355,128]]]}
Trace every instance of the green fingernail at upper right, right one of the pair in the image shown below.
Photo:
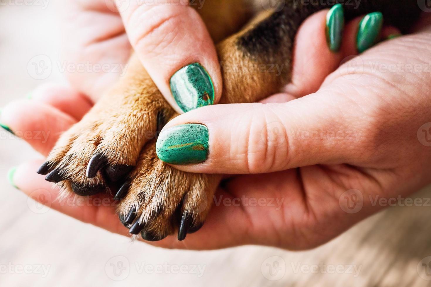
{"label": "green fingernail at upper right, right one of the pair", "polygon": [[365,15],[359,23],[359,31],[356,37],[358,52],[362,53],[374,46],[378,40],[382,25],[383,14],[381,12],[373,12]]}

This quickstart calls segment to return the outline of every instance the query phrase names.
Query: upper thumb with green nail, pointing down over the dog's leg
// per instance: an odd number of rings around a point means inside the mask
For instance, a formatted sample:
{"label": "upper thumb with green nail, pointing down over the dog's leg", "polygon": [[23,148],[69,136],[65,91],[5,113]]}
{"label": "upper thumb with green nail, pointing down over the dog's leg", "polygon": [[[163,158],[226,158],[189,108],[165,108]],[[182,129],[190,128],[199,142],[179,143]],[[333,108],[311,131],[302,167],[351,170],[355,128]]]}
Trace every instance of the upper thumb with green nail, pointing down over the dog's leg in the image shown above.
{"label": "upper thumb with green nail, pointing down over the dog's leg", "polygon": [[215,46],[195,9],[184,1],[132,0],[121,15],[137,56],[172,107],[182,113],[219,101]]}

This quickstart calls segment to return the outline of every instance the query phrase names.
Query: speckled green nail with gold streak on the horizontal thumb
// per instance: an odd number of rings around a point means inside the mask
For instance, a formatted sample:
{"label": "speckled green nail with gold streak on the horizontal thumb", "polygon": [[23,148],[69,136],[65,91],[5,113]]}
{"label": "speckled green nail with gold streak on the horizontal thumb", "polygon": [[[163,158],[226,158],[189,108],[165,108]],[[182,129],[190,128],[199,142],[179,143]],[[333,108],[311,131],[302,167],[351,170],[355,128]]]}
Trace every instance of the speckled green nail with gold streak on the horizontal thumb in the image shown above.
{"label": "speckled green nail with gold streak on the horizontal thumb", "polygon": [[168,164],[197,164],[208,156],[208,141],[208,128],[203,124],[170,127],[157,139],[157,156]]}

